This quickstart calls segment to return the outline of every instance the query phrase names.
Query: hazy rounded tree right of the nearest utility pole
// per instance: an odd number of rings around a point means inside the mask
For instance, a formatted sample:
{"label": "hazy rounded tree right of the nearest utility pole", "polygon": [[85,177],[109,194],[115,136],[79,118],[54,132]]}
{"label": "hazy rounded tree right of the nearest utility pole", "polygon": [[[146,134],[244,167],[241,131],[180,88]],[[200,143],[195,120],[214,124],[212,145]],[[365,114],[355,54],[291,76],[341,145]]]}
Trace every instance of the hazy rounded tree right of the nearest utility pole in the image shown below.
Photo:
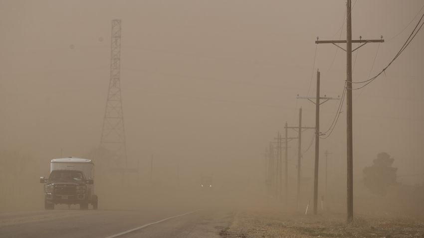
{"label": "hazy rounded tree right of the nearest utility pole", "polygon": [[381,152],[373,160],[372,166],[364,168],[364,183],[372,193],[385,196],[386,188],[396,184],[398,168],[392,167],[394,160],[388,153]]}

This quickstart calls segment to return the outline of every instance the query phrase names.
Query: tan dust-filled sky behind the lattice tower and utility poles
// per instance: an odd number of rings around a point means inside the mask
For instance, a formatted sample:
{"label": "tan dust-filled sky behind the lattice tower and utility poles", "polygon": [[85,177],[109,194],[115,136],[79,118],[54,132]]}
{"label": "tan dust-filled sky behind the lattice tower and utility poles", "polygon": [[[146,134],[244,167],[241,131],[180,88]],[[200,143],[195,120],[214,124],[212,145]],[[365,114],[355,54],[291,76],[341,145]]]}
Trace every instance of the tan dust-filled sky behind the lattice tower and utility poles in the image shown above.
{"label": "tan dust-filled sky behind the lattice tower and utility poles", "polygon": [[[353,80],[363,81],[393,59],[424,3],[353,2],[353,37],[386,40],[353,54]],[[317,68],[321,95],[342,94],[345,53],[314,42],[346,39],[345,7],[345,0],[0,0],[1,149],[48,161],[61,150],[80,156],[99,145],[111,20],[121,19],[129,159],[148,166],[155,154],[180,161],[183,172],[262,180],[262,153],[285,121],[297,125],[302,107],[304,125],[314,126],[314,105],[296,96],[314,96]],[[386,74],[354,92],[357,177],[385,151],[399,181],[424,180],[423,43],[422,30]],[[321,131],[337,106],[322,105]],[[321,140],[321,158],[326,149],[333,153],[334,173],[345,171],[342,111],[331,137]],[[304,132],[303,150],[312,135]],[[297,142],[290,146],[292,176]],[[313,149],[304,154],[304,176],[312,173]]]}

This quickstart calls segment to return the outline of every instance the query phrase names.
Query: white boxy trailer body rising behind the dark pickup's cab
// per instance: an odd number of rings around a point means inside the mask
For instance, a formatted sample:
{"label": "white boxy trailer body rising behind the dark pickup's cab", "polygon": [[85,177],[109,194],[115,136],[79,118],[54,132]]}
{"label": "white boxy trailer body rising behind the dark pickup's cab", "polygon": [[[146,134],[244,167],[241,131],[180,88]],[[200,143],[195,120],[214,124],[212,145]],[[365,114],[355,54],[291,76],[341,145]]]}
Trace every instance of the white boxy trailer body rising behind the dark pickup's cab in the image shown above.
{"label": "white boxy trailer body rising behind the dark pickup's cab", "polygon": [[78,170],[84,173],[85,179],[94,179],[94,163],[91,159],[59,158],[50,161],[50,173],[53,170]]}

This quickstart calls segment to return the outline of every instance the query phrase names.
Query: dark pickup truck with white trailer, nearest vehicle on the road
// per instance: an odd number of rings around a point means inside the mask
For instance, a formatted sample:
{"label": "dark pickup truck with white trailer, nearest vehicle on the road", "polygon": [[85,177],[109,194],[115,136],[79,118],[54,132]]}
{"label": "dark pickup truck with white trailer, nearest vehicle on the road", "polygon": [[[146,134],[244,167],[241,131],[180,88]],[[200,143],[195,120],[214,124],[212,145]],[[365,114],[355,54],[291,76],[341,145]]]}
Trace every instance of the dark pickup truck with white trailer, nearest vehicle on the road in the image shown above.
{"label": "dark pickup truck with white trailer, nearest vehicle on the road", "polygon": [[83,210],[91,204],[97,209],[93,179],[94,163],[90,159],[52,159],[49,177],[40,177],[40,183],[44,184],[44,209],[54,209],[55,204],[79,204]]}

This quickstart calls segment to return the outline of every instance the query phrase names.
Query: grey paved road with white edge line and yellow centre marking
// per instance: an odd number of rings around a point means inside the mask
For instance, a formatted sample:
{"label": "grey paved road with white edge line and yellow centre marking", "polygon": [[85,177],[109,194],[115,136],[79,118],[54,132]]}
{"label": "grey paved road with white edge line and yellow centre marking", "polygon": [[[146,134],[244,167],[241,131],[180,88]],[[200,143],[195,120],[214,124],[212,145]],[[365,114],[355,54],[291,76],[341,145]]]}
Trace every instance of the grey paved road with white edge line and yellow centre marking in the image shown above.
{"label": "grey paved road with white edge line and yellow centre marking", "polygon": [[[180,216],[182,215],[182,216]],[[53,210],[0,213],[1,238],[219,237],[233,213],[224,210]],[[130,230],[135,230],[126,233]],[[119,235],[122,234],[122,235]],[[119,235],[119,236],[117,236]]]}

